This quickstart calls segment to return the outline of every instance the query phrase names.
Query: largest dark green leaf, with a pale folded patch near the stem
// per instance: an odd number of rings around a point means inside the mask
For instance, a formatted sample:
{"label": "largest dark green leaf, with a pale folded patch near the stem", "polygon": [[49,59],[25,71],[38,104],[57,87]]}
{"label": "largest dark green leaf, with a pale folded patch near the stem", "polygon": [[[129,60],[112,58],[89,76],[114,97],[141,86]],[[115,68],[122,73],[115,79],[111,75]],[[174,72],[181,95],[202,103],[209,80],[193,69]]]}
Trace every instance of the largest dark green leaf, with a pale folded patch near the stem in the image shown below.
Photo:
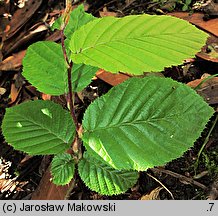
{"label": "largest dark green leaf, with a pale folded patch near the stem", "polygon": [[117,169],[146,170],[181,156],[213,109],[168,78],[131,78],[95,100],[83,119],[84,145]]}

